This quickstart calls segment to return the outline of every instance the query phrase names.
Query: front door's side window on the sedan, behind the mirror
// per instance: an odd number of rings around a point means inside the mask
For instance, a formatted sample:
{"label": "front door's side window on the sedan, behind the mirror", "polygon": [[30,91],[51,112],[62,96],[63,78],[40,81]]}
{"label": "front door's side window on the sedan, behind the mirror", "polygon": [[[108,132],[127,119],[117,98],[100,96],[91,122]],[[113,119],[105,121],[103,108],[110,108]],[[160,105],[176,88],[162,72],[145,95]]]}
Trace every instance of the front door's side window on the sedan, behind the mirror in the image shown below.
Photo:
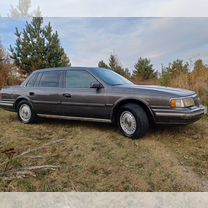
{"label": "front door's side window on the sedan, behind the mirror", "polygon": [[99,82],[86,71],[66,72],[66,88],[90,88],[94,83]]}

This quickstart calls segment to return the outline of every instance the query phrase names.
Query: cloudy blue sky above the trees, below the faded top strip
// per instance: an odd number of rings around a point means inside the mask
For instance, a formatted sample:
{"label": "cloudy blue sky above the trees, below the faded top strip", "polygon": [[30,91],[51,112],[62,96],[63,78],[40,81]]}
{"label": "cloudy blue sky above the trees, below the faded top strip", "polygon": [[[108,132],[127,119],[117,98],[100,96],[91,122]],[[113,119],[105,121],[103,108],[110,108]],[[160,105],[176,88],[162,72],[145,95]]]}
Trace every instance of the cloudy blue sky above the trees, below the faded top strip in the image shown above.
{"label": "cloudy blue sky above the trees, below the faded top strip", "polygon": [[[157,70],[177,58],[208,63],[208,18],[44,18],[49,21],[73,66],[97,66],[111,53],[130,70],[140,56]],[[0,18],[4,47],[14,44],[15,27],[22,30],[25,22]]]}

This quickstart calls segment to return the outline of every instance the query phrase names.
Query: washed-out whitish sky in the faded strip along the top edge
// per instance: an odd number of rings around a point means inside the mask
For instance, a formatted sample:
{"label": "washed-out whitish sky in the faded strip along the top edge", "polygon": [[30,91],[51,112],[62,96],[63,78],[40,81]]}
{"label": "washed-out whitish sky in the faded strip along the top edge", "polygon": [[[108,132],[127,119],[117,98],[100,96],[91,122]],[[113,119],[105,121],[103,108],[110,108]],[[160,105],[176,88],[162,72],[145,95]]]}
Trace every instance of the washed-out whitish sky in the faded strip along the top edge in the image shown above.
{"label": "washed-out whitish sky in the faded strip along the top edge", "polygon": [[[7,15],[18,0],[0,3],[0,13]],[[207,16],[207,0],[32,0],[48,17],[177,17]]]}

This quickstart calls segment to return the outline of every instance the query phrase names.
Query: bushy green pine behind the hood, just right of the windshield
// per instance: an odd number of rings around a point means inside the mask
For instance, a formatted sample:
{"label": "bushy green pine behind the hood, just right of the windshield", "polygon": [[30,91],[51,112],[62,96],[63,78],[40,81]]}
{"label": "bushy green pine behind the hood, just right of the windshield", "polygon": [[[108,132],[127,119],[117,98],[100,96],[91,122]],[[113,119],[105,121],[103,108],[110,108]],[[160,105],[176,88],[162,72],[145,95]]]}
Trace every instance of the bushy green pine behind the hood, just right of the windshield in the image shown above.
{"label": "bushy green pine behind the hood, just right of the windshield", "polygon": [[148,80],[157,77],[157,73],[153,69],[153,65],[147,58],[139,58],[134,66],[133,77],[141,80]]}

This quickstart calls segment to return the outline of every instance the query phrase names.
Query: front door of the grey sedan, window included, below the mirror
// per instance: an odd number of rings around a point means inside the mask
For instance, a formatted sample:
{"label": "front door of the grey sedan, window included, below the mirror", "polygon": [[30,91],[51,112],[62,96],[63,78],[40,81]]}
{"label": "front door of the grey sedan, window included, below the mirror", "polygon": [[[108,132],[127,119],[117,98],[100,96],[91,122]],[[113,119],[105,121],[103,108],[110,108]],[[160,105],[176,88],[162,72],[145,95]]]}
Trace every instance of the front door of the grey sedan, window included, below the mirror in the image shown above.
{"label": "front door of the grey sedan, window included, below the mirror", "polygon": [[85,70],[66,70],[65,86],[63,88],[63,115],[107,118],[105,88],[99,90],[91,88],[98,80]]}

